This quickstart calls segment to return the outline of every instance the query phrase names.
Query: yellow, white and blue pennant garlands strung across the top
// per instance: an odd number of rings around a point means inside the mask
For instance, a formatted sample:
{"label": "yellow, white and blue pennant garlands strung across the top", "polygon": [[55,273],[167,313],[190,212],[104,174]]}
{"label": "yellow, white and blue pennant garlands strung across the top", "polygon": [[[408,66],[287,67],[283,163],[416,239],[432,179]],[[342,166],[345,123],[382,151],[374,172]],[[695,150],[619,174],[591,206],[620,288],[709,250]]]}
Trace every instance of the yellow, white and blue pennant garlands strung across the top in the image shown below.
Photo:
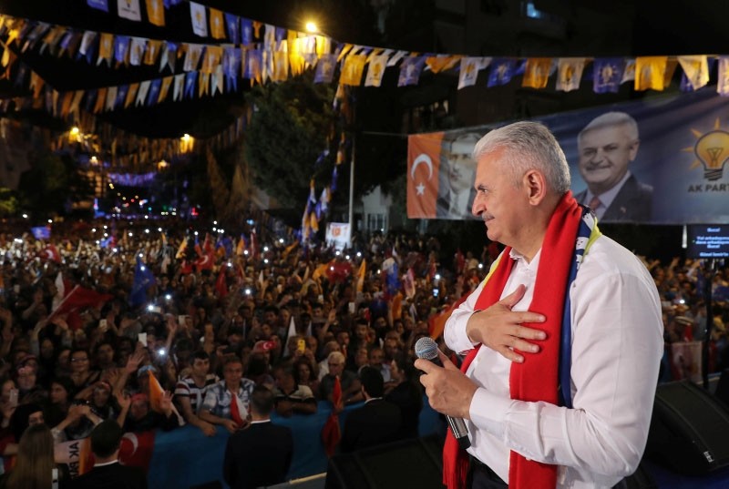
{"label": "yellow, white and blue pennant garlands strung across the top", "polygon": [[[160,5],[162,4],[163,5]],[[119,2],[120,17],[141,21],[140,10],[146,7],[147,21],[152,25],[165,25],[164,9],[179,5],[182,0],[140,0]],[[384,68],[400,66],[398,86],[419,83],[424,71],[453,73],[458,76],[458,89],[478,85],[480,72],[488,71],[480,83],[488,87],[508,84],[514,76],[523,74],[522,86],[534,89],[549,87],[550,80],[557,90],[570,91],[580,87],[584,76],[593,82],[595,93],[616,91],[622,83],[634,81],[635,90],[662,90],[671,82],[673,70],[680,63],[685,79],[683,90],[703,87],[708,83],[709,63],[719,56],[639,56],[634,58],[489,58],[459,54],[427,54],[383,47],[343,44],[327,36],[317,36],[286,29],[276,25],[222,12],[207,5],[187,2],[190,6],[190,25],[193,32],[208,43],[186,43],[165,39],[131,37],[122,34],[79,30],[65,25],[54,25],[35,20],[0,15],[0,38],[15,52],[36,49],[41,54],[81,60],[89,64],[107,64],[115,69],[127,66],[159,66],[160,74],[174,75],[200,70],[197,97],[231,91],[238,88],[238,79],[250,83],[282,82],[297,76],[303,69],[315,68],[315,82],[334,81],[338,68],[340,84],[380,87]],[[109,11],[108,2],[87,0],[89,8]],[[161,8],[161,7],[164,8]],[[334,61],[335,56],[335,61]],[[181,58],[181,66],[176,60]],[[665,58],[665,62],[662,61]],[[240,59],[241,69],[237,69]],[[683,60],[683,62],[682,62]],[[592,64],[591,70],[584,68]],[[7,71],[7,56],[2,67]],[[635,76],[635,66],[640,66]],[[554,76],[555,73],[557,76]],[[620,81],[616,76],[621,73]],[[366,74],[366,76],[365,76]],[[7,76],[7,75],[6,75]],[[161,76],[164,79],[166,76]],[[192,79],[190,76],[188,79]],[[21,80],[19,83],[24,82]],[[723,95],[720,79],[717,92]],[[692,83],[695,82],[695,83]],[[150,82],[151,83],[151,82]],[[224,87],[223,87],[224,85]],[[100,87],[99,87],[100,88]],[[118,89],[117,89],[118,92]],[[107,91],[108,93],[108,91]],[[195,90],[186,85],[180,100],[192,97]],[[150,97],[149,104],[155,101]],[[118,104],[99,104],[118,108]]]}

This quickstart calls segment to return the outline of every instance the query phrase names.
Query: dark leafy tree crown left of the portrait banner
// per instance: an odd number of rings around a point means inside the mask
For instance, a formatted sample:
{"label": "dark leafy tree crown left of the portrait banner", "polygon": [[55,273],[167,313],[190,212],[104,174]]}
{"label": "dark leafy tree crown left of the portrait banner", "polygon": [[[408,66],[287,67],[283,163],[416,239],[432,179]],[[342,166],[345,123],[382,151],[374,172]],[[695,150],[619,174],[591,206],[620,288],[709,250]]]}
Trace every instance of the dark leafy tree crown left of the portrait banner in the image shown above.
{"label": "dark leafy tree crown left of the portrait banner", "polygon": [[314,84],[311,74],[255,87],[248,96],[253,117],[245,153],[253,181],[282,207],[303,205],[316,172],[331,175],[332,156],[316,161],[332,132],[333,99],[332,88]]}

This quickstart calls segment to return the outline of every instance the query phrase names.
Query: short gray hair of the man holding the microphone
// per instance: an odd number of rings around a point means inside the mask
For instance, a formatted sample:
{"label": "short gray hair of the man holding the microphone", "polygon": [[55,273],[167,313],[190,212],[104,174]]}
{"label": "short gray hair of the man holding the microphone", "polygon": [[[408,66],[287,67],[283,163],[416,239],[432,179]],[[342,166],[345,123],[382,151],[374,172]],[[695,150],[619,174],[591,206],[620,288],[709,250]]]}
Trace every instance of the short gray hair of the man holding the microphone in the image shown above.
{"label": "short gray hair of the man holding the microphone", "polygon": [[538,169],[547,179],[547,185],[559,195],[570,190],[570,167],[560,143],[549,129],[539,122],[515,122],[494,129],[481,138],[473,149],[473,158],[505,149],[504,162],[508,165],[514,185],[529,169]]}

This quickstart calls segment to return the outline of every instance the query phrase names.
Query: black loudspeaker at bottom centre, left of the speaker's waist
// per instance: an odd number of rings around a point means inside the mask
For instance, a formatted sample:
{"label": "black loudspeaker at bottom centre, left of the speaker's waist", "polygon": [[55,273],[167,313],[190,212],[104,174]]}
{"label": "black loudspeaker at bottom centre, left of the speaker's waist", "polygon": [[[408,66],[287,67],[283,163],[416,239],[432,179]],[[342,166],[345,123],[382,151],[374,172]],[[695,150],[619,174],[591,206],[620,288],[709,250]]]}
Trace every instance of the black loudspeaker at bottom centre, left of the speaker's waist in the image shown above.
{"label": "black loudspeaker at bottom centre, left of the speaker's waist", "polygon": [[436,435],[340,453],[329,459],[326,489],[443,489],[443,439]]}

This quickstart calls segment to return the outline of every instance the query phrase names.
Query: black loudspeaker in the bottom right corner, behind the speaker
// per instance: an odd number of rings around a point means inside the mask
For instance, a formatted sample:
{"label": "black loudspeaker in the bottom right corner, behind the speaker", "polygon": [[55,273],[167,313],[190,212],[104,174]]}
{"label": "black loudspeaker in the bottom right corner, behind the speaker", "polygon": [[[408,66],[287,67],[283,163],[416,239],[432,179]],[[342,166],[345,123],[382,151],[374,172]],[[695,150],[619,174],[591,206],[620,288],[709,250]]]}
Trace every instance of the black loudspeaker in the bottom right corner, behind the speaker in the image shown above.
{"label": "black loudspeaker in the bottom right corner, behind the speaker", "polygon": [[693,382],[659,385],[645,457],[687,475],[729,465],[729,410]]}

